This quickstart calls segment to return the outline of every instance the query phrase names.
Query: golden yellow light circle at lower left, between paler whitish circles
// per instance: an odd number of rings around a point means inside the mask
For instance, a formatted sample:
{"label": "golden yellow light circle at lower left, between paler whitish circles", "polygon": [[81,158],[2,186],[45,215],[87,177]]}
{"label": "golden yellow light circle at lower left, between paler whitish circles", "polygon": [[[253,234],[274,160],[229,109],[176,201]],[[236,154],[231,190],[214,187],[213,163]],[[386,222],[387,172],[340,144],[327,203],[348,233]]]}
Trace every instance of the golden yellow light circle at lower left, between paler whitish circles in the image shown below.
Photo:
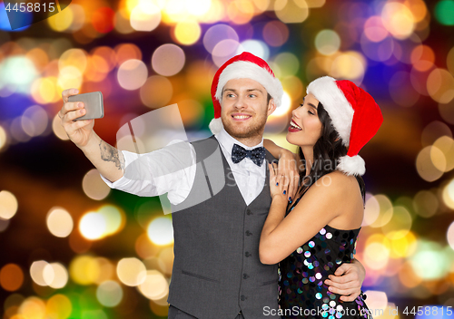
{"label": "golden yellow light circle at lower left, between paler whitish circles", "polygon": [[69,275],[78,285],[91,285],[96,282],[101,268],[93,256],[76,256],[69,266]]}

